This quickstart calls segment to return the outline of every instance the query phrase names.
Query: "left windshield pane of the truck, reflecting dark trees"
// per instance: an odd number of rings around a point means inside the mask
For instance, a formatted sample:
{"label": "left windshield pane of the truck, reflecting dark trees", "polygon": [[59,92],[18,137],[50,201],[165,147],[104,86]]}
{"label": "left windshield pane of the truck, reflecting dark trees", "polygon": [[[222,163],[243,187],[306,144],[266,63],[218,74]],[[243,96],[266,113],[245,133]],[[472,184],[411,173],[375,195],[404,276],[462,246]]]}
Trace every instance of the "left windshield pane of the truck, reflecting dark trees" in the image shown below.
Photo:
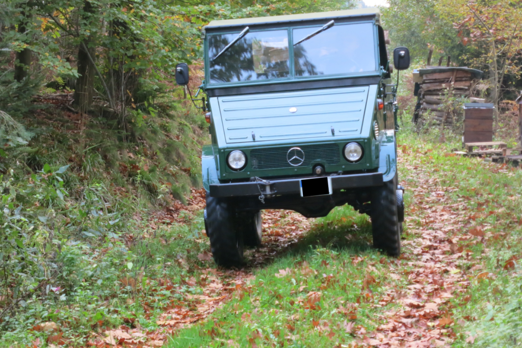
{"label": "left windshield pane of the truck, reflecting dark trees", "polygon": [[[208,56],[216,56],[238,34],[208,39]],[[210,62],[210,83],[263,80],[290,76],[288,30],[250,32]]]}

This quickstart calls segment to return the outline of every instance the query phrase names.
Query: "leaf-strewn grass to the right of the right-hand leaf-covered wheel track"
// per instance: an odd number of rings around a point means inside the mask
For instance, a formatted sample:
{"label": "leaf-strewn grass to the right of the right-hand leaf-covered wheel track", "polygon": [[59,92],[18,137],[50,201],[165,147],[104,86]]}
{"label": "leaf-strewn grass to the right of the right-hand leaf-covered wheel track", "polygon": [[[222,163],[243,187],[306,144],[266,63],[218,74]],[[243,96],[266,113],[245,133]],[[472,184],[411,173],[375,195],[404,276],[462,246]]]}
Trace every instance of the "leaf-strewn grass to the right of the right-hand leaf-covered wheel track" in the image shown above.
{"label": "leaf-strewn grass to the right of the right-hand leaf-covered wheel track", "polygon": [[[403,156],[401,173],[412,184],[416,173],[411,169],[424,167],[430,172],[430,180],[448,188],[450,200],[446,205],[458,203],[462,217],[449,238],[466,236],[477,226],[485,233],[483,239],[459,242],[459,246],[470,251],[470,257],[460,262],[470,286],[453,301],[453,316],[458,322],[453,346],[519,346],[522,269],[520,261],[515,262],[514,268],[504,266],[511,258],[520,259],[522,255],[522,170],[455,156],[451,150],[460,147],[459,136],[449,134],[447,143],[438,144],[439,134],[434,130],[423,136],[409,134],[400,138],[408,153]],[[489,274],[478,278],[482,272]]]}

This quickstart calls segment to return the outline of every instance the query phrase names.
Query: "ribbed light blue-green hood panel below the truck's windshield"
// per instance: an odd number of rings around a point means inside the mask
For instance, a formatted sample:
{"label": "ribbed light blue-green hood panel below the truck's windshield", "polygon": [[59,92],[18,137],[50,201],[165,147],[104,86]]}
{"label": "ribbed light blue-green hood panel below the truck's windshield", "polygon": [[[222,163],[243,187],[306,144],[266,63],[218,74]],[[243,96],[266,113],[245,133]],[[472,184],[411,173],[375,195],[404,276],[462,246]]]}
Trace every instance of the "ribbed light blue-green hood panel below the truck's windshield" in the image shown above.
{"label": "ribbed light blue-green hood panel below the truck's windshield", "polygon": [[217,99],[226,142],[257,143],[361,134],[368,91],[362,86]]}

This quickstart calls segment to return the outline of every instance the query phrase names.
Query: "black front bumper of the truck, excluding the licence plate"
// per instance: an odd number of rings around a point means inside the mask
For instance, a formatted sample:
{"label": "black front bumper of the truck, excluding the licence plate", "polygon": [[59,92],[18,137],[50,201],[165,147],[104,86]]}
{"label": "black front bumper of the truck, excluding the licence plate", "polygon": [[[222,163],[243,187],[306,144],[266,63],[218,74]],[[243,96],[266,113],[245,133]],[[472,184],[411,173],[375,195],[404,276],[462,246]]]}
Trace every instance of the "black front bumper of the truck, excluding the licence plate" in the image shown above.
{"label": "black front bumper of the truck, excluding the licence plate", "polygon": [[[310,177],[315,178],[315,177]],[[241,196],[259,196],[261,190],[265,195],[294,195],[301,194],[301,179],[277,179],[222,183],[210,185],[211,197],[241,197]],[[347,190],[380,186],[383,184],[383,173],[364,173],[352,175],[335,175],[331,177],[332,190]]]}

